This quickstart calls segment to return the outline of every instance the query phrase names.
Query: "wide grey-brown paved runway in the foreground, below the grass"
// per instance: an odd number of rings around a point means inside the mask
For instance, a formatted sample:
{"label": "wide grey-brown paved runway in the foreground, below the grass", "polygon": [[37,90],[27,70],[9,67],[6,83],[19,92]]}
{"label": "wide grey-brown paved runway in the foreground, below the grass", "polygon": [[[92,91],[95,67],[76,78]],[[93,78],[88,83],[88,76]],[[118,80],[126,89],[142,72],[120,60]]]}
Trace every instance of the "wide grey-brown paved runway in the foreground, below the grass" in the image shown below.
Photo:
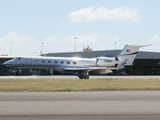
{"label": "wide grey-brown paved runway in the foreground, below the grass", "polygon": [[159,120],[160,91],[1,92],[0,120]]}

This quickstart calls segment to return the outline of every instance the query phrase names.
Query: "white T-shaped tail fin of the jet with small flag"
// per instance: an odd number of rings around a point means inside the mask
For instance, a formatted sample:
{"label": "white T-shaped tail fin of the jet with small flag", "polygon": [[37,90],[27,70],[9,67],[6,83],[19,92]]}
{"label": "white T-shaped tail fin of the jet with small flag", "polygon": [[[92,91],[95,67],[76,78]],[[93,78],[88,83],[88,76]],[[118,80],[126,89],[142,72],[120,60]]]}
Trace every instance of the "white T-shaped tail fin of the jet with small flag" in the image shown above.
{"label": "white T-shaped tail fin of the jet with small flag", "polygon": [[125,65],[133,65],[133,61],[136,58],[139,48],[150,46],[150,45],[125,45],[122,52],[117,56],[119,60],[126,60],[127,62]]}

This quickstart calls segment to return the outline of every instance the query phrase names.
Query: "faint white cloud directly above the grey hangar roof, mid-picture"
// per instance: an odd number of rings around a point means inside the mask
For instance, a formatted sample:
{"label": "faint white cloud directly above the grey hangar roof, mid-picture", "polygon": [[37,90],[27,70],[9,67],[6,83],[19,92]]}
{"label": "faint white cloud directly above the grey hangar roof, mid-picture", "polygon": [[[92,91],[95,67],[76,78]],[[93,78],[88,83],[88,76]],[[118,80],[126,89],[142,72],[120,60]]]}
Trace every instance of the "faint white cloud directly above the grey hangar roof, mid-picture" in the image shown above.
{"label": "faint white cloud directly above the grey hangar roof, mid-picture", "polygon": [[119,36],[106,36],[100,34],[79,34],[79,35],[71,35],[70,37],[66,38],[65,42],[72,43],[72,47],[74,48],[75,45],[75,38],[76,37],[76,45],[78,51],[82,51],[83,46],[90,46],[93,50],[105,50],[108,48],[112,48],[109,46],[110,44],[114,44],[114,42],[119,40]]}

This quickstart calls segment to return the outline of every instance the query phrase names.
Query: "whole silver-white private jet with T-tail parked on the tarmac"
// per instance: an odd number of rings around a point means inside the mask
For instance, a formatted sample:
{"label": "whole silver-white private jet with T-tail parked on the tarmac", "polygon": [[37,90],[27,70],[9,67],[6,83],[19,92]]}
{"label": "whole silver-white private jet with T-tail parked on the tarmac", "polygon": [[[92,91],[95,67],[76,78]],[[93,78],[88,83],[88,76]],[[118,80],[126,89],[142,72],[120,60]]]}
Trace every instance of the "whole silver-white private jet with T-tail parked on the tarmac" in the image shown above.
{"label": "whole silver-white private jet with T-tail parked on the tarmac", "polygon": [[4,65],[12,68],[53,69],[77,73],[80,79],[89,79],[89,72],[104,74],[132,65],[138,49],[146,45],[125,45],[122,52],[114,57],[72,58],[72,57],[16,57]]}

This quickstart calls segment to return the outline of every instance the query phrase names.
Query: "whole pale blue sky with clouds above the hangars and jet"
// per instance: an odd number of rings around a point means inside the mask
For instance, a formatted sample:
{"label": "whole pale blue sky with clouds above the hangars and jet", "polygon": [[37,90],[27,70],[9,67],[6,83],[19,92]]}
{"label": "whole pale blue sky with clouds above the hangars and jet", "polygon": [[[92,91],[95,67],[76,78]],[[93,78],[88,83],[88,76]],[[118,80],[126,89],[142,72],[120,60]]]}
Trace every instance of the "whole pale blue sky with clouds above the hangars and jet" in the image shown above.
{"label": "whole pale blue sky with clouds above the hangars and jet", "polygon": [[159,0],[0,0],[0,54],[122,49],[160,52]]}

